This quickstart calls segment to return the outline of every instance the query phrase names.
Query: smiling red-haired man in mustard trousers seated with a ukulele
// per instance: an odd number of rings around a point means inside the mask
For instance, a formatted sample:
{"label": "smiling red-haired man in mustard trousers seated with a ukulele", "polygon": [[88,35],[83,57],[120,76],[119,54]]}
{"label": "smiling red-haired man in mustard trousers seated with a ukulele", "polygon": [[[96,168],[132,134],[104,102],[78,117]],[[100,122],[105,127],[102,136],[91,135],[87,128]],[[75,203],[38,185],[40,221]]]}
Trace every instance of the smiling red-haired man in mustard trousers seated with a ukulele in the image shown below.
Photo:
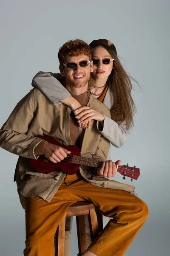
{"label": "smiling red-haired man in mustard trousers seated with a ukulele", "polygon": [[[59,49],[59,69],[65,75],[65,87],[81,105],[98,109],[110,117],[110,111],[88,93],[93,71],[91,50],[84,41],[68,41]],[[78,145],[84,157],[104,161],[102,168],[80,166],[75,175],[57,170],[50,174],[36,172],[29,158],[41,154],[56,163],[70,151],[47,143],[39,137],[50,135],[63,145]],[[20,201],[26,211],[25,256],[53,256],[54,234],[71,204],[91,201],[107,217],[113,217],[101,235],[83,256],[122,256],[147,218],[146,204],[129,192],[134,187],[106,177],[114,176],[116,164],[105,161],[109,142],[96,129],[80,131],[71,109],[53,105],[37,89],[31,90],[14,108],[0,131],[0,146],[19,155],[15,178]],[[127,191],[125,191],[127,190]]]}

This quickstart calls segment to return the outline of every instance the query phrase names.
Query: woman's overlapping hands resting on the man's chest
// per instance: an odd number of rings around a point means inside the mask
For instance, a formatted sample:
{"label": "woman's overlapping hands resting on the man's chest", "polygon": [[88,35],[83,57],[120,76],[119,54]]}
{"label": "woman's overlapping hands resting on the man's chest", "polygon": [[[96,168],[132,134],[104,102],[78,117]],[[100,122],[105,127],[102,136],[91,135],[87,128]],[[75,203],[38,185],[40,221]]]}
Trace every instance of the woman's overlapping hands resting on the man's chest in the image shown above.
{"label": "woman's overlapping hands resting on the man's chest", "polygon": [[81,124],[82,128],[88,126],[90,128],[91,120],[94,119],[96,121],[102,122],[104,120],[104,115],[93,108],[90,107],[80,107],[78,108],[75,113],[77,118],[77,122]]}

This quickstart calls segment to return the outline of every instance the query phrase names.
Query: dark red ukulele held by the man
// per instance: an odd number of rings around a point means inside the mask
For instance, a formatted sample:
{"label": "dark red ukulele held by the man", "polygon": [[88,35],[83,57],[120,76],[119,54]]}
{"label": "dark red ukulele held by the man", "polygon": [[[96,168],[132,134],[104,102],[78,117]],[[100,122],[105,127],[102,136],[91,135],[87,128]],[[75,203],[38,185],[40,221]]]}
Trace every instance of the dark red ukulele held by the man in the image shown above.
{"label": "dark red ukulele held by the man", "polygon": [[[78,171],[80,165],[92,166],[97,168],[102,167],[103,162],[100,160],[91,159],[88,157],[81,157],[80,149],[75,145],[63,146],[56,139],[48,135],[41,136],[40,138],[49,143],[58,145],[62,148],[66,148],[68,151],[71,151],[71,154],[68,154],[67,157],[65,157],[65,159],[59,163],[52,163],[43,155],[38,157],[37,160],[30,159],[31,166],[35,170],[37,170],[37,172],[42,172],[47,174],[50,172],[54,172],[57,169],[62,169],[62,171],[64,171],[68,175],[73,175]],[[126,176],[127,176],[131,178],[131,181],[133,179],[137,180],[140,175],[139,168],[136,168],[136,166],[130,167],[128,166],[128,164],[127,166],[118,166],[117,172],[119,172],[124,176],[123,177],[124,180],[126,179]]]}

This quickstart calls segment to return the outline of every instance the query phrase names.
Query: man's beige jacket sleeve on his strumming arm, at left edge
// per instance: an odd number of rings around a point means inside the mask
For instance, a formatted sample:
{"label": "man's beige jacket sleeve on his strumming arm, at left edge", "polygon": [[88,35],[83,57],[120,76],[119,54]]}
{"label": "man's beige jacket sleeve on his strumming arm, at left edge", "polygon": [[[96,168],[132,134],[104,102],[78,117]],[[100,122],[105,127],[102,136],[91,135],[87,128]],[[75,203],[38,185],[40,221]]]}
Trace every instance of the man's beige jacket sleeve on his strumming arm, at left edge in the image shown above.
{"label": "man's beige jacket sleeve on his strumming arm, at left edge", "polygon": [[27,135],[34,119],[34,91],[31,90],[12,111],[0,130],[0,147],[22,157],[37,159],[34,148],[42,139]]}

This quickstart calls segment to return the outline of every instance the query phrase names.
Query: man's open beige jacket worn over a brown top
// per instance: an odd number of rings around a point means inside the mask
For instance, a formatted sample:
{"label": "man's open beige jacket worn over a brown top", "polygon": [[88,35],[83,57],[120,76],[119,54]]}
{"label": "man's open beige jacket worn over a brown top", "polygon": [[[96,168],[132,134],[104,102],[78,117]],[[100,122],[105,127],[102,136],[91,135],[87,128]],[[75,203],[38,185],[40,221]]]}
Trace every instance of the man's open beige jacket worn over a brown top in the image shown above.
{"label": "man's open beige jacket worn over a brown top", "polygon": [[[98,111],[110,117],[108,108],[93,96],[90,96],[87,106],[97,107]],[[1,128],[0,146],[19,155],[14,180],[17,181],[20,195],[40,196],[49,202],[57,192],[65,174],[61,171],[50,174],[38,173],[31,167],[29,158],[37,159],[34,148],[42,141],[38,137],[45,134],[56,138],[62,145],[72,144],[69,132],[70,113],[71,109],[67,105],[53,105],[34,88],[21,99]],[[80,134],[80,149],[83,157],[104,161],[107,159],[109,144],[109,141],[98,131],[95,120],[92,120],[91,129],[86,128]],[[80,166],[79,172],[94,186],[134,192],[133,186],[95,176],[93,168]]]}

